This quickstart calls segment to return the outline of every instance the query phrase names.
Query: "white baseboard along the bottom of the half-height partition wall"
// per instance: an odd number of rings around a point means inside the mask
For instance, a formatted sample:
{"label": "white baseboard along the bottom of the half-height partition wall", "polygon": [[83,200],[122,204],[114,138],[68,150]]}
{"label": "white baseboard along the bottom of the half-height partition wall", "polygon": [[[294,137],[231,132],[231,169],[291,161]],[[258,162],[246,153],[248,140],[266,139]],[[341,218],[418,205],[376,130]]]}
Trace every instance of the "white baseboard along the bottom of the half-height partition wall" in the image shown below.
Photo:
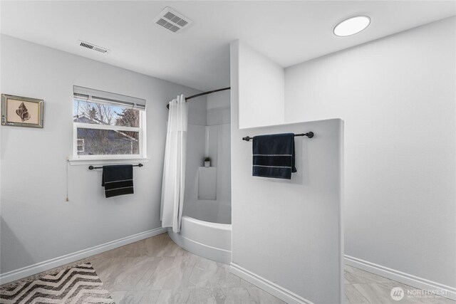
{"label": "white baseboard along the bottom of the half-height partition wall", "polygon": [[271,293],[271,295],[276,296],[277,298],[284,300],[286,303],[293,304],[314,304],[311,301],[302,298],[296,293],[292,293],[290,290],[285,289],[276,283],[273,283],[266,278],[258,276],[251,271],[248,271],[246,268],[243,268],[236,263],[231,263],[229,270],[236,276],[243,278],[245,281],[252,283],[253,285],[261,288],[262,290]]}

